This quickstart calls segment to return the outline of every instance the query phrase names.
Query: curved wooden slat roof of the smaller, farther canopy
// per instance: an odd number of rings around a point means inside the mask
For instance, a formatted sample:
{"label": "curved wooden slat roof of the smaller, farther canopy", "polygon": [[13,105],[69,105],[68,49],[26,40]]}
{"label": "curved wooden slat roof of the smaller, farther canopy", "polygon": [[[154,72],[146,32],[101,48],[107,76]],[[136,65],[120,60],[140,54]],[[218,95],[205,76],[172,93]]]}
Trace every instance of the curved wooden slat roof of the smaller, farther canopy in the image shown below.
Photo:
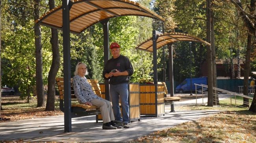
{"label": "curved wooden slat roof of the smaller, farther canopy", "polygon": [[[158,35],[158,40],[157,40],[157,49],[163,47],[164,45],[167,45],[169,43],[174,43],[174,42],[179,42],[179,41],[188,41],[188,42],[200,42],[204,43],[206,45],[211,45],[210,43],[197,38],[195,36],[191,36],[189,34],[184,34],[184,33],[165,33],[165,34],[160,34]],[[143,43],[138,45],[136,49],[139,50],[144,50],[148,52],[153,52],[153,41],[152,38],[149,38],[145,40]]]}

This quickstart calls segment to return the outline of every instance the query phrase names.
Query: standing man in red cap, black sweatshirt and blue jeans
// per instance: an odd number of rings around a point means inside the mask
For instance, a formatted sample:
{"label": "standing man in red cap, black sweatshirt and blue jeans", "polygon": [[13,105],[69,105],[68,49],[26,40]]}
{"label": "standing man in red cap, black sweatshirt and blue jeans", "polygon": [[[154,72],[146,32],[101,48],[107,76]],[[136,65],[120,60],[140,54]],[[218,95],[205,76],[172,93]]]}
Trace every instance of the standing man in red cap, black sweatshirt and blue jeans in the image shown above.
{"label": "standing man in red cap, black sweatshirt and blue jeans", "polygon": [[[128,82],[134,73],[132,63],[126,56],[120,54],[118,43],[111,43],[110,52],[113,58],[109,59],[102,72],[103,78],[109,80],[110,96],[117,125],[129,128]],[[119,107],[119,98],[122,104],[122,117]]]}

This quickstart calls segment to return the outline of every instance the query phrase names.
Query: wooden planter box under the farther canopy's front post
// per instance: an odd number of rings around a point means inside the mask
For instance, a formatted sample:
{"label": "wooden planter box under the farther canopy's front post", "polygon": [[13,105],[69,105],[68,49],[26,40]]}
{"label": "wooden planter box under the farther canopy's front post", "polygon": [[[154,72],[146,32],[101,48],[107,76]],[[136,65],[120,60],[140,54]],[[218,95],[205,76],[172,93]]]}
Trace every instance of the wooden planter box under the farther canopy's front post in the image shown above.
{"label": "wooden planter box under the farther canopy's front post", "polygon": [[[156,93],[157,86],[157,93]],[[141,115],[165,115],[164,85],[141,84],[140,86]]]}

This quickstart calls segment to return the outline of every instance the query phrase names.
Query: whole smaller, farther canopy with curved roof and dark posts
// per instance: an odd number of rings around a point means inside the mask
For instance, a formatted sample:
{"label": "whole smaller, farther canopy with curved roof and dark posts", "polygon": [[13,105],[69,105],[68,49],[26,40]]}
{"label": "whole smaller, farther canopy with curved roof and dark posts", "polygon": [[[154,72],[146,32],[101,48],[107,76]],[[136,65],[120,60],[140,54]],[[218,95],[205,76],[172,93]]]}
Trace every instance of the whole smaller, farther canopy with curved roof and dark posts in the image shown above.
{"label": "whole smaller, farther canopy with curved roof and dark posts", "polygon": [[[148,38],[140,45],[136,47],[136,49],[148,51],[153,53],[153,74],[154,74],[154,84],[158,84],[158,76],[157,76],[157,49],[168,45],[169,49],[169,77],[170,77],[170,96],[174,96],[174,87],[173,87],[173,43],[187,41],[187,42],[199,42],[204,43],[206,45],[211,46],[210,43],[185,33],[160,33],[156,30],[152,32],[152,38]],[[164,69],[165,70],[165,69]],[[157,86],[155,87],[156,91],[156,104],[157,104]],[[156,107],[157,111],[157,107]],[[171,112],[174,111],[174,105],[171,105]],[[157,116],[157,115],[156,115]]]}

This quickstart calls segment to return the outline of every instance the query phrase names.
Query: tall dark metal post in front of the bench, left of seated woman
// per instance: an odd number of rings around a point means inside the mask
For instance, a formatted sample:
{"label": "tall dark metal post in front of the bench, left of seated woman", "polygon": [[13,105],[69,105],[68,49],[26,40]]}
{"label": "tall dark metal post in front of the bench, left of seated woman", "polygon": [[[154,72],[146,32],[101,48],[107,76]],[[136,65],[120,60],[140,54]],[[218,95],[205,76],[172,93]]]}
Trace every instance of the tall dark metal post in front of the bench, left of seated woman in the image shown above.
{"label": "tall dark metal post in front of the bench, left of seated woman", "polygon": [[62,0],[63,23],[63,77],[64,77],[64,132],[72,131],[71,124],[71,75],[70,75],[70,27],[69,5],[70,1]]}

